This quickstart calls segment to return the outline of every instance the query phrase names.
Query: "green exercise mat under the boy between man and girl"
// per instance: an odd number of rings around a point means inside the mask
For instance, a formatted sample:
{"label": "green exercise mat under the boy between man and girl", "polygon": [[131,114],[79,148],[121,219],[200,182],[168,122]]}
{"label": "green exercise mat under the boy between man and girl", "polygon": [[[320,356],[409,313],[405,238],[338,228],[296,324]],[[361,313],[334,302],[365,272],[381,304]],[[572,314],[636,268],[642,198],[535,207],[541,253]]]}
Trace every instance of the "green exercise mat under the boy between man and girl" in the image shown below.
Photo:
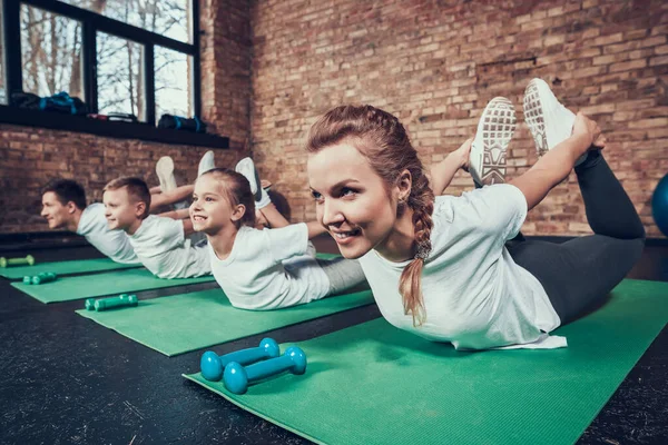
{"label": "green exercise mat under the boy between man and girl", "polygon": [[199,278],[163,279],[141,268],[78,277],[58,277],[56,281],[37,286],[23,283],[12,283],[11,285],[42,303],[56,303],[213,280],[214,277],[210,275]]}

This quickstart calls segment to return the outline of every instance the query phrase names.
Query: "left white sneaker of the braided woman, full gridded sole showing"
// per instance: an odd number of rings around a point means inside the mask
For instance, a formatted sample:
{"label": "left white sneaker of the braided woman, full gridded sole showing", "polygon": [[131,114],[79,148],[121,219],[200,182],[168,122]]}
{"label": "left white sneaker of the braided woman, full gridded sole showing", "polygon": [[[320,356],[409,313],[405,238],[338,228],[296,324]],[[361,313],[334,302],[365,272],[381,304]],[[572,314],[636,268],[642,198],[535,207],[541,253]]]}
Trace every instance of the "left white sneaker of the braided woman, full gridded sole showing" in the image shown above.
{"label": "left white sneaker of the braided woman, full gridded sole showing", "polygon": [[478,185],[505,182],[505,151],[515,126],[512,102],[503,97],[490,100],[478,121],[469,157],[469,171]]}

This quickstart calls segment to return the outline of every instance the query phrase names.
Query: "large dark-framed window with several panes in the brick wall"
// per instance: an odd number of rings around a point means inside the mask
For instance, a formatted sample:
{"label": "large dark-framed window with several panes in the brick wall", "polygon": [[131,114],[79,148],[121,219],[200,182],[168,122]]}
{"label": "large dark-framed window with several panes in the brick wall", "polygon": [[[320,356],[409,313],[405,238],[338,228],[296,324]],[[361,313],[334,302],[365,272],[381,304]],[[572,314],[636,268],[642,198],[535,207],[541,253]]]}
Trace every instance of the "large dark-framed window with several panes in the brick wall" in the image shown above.
{"label": "large dark-framed window with several panes in the brick wall", "polygon": [[[199,116],[198,2],[0,0],[9,91],[66,91],[90,112]],[[6,62],[6,63],[4,63]],[[0,66],[2,68],[2,66]]]}

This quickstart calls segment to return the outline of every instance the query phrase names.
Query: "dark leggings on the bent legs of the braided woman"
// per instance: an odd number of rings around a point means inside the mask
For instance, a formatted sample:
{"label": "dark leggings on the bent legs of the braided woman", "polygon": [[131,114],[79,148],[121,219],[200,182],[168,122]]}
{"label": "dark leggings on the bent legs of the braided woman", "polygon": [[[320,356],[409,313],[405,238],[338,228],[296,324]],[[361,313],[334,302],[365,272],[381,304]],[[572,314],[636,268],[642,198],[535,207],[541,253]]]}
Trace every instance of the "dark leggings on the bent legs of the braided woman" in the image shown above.
{"label": "dark leggings on the bent legs of the braided woman", "polygon": [[507,248],[542,284],[561,324],[600,304],[633,267],[645,227],[600,150],[576,167],[587,220],[595,235],[563,244],[524,240]]}

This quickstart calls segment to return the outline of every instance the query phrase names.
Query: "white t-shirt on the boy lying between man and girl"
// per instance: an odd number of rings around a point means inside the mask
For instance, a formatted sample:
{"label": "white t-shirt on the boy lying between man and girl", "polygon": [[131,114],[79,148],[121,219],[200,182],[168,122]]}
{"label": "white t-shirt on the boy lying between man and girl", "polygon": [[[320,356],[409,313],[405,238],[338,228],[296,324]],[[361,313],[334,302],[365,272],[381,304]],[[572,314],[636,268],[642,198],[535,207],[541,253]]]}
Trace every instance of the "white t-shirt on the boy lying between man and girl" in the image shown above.
{"label": "white t-shirt on the boy lying between man and girl", "polygon": [[206,246],[190,246],[181,220],[149,215],[128,238],[144,267],[160,278],[191,278],[212,273]]}

